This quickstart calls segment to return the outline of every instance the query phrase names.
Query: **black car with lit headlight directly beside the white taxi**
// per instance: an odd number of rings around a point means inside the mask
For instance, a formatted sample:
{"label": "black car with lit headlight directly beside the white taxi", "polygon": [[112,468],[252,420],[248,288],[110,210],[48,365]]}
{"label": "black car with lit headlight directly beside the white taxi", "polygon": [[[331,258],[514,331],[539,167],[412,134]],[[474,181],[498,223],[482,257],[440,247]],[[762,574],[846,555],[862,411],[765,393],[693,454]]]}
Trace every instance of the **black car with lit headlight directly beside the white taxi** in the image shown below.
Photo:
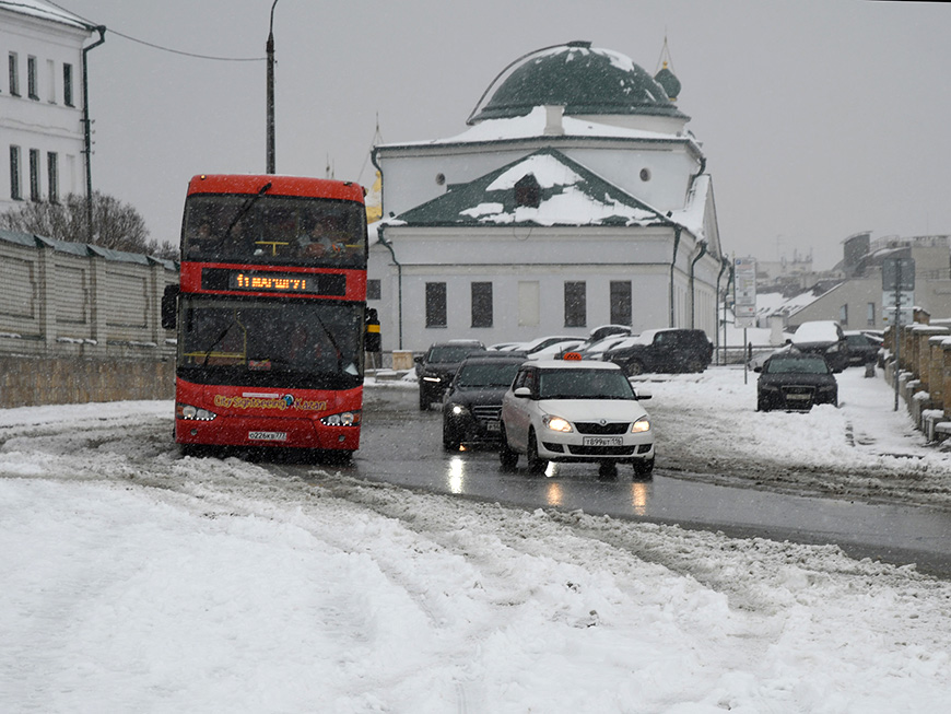
{"label": "black car with lit headlight directly beside the white taxi", "polygon": [[443,446],[448,450],[463,443],[500,440],[502,396],[525,355],[489,354],[467,358],[453,378],[443,402]]}

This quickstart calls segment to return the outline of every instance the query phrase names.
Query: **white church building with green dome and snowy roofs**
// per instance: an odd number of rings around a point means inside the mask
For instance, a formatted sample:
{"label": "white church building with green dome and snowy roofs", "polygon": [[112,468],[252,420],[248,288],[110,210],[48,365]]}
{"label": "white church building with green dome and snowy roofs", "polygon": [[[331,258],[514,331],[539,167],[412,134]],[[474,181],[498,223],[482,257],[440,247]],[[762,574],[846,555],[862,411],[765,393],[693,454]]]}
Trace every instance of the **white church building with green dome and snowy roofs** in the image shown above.
{"label": "white church building with green dome and snowy roofs", "polygon": [[503,70],[466,132],[376,147],[367,292],[384,351],[606,324],[715,341],[729,262],[679,89],[666,67],[570,43]]}

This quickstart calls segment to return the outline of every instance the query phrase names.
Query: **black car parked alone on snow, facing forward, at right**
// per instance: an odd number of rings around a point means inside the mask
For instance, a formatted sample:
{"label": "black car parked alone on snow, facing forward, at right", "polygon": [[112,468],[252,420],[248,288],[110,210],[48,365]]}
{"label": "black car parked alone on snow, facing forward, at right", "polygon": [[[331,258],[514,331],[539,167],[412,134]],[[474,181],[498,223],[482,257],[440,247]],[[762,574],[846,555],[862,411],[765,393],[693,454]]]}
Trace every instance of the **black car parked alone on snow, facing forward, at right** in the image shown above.
{"label": "black car parked alone on snow, facing forward, at right", "polygon": [[796,409],[813,405],[838,406],[838,384],[832,367],[820,354],[784,352],[756,367],[756,410]]}

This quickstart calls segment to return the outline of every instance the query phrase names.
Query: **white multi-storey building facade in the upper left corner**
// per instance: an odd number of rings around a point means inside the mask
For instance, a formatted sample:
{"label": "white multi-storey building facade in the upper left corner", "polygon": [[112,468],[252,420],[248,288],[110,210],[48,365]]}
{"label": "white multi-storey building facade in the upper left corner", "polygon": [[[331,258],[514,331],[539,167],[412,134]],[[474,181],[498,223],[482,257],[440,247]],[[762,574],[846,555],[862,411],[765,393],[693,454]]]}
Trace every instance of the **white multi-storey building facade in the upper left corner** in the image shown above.
{"label": "white multi-storey building facade in the upper left corner", "polygon": [[90,34],[37,0],[0,5],[0,212],[85,194],[82,48]]}

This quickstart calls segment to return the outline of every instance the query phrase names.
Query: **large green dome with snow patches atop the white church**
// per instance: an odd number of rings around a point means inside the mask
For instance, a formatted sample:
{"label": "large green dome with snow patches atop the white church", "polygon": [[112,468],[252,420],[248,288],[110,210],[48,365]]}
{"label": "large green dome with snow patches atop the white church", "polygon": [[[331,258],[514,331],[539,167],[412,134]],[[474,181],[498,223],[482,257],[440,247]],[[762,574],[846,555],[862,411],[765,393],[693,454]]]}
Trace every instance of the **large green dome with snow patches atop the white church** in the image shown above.
{"label": "large green dome with snow patches atop the white church", "polygon": [[507,119],[560,105],[565,115],[638,114],[686,119],[664,87],[630,57],[590,43],[568,43],[528,57],[469,120]]}

